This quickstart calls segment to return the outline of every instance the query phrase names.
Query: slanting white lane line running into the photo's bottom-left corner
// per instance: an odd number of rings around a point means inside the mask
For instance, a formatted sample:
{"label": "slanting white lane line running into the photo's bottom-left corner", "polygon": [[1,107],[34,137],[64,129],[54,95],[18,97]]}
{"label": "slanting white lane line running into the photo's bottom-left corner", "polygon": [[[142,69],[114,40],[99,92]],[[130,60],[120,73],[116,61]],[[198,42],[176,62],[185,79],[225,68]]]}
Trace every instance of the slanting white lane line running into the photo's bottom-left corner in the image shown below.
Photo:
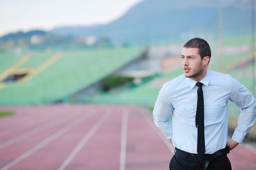
{"label": "slanting white lane line running into the photo's bottom-left corner", "polygon": [[38,145],[36,145],[35,147],[32,147],[31,149],[29,149],[27,152],[21,154],[21,156],[19,156],[18,158],[14,159],[14,161],[10,162],[9,164],[7,164],[3,168],[1,168],[1,170],[9,169],[12,166],[14,166],[14,165],[18,164],[19,162],[21,162],[23,159],[26,159],[27,157],[31,156],[31,154],[37,152],[39,149],[41,149],[44,146],[48,145],[48,143],[50,143],[53,140],[57,139],[58,137],[63,135],[65,132],[68,132],[72,128],[75,128],[75,126],[77,126],[80,123],[82,123],[83,121],[85,121],[89,117],[89,115],[92,115],[92,112],[88,113],[86,115],[83,115],[83,116],[81,116],[78,119],[75,119],[72,123],[69,123],[68,125],[65,125],[65,127],[61,128],[60,130],[55,132],[53,135],[50,135],[45,140],[43,140],[42,142],[38,143]]}

